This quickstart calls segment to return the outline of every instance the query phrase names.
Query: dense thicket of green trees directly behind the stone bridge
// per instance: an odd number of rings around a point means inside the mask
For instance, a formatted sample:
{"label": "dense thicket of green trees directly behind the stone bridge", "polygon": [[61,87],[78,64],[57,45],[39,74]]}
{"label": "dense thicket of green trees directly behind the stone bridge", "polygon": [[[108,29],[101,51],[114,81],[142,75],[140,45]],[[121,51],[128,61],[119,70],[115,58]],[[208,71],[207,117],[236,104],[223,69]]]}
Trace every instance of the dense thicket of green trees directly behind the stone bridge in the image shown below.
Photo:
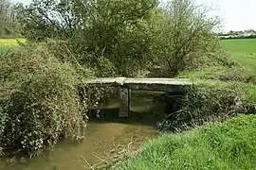
{"label": "dense thicket of green trees directly behind the stone bridge", "polygon": [[[191,0],[34,0],[20,8],[24,36],[62,40],[97,76],[174,76],[216,56],[215,18]],[[198,62],[201,61],[201,62]]]}

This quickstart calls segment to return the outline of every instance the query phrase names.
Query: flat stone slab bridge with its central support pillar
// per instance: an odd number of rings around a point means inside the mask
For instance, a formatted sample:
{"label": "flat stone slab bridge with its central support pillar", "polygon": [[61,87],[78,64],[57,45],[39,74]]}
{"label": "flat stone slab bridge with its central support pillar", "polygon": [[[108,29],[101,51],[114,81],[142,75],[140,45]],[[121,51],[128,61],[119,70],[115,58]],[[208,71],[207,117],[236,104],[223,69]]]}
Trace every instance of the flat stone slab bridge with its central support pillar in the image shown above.
{"label": "flat stone slab bridge with its central support pillar", "polygon": [[128,117],[130,111],[130,90],[147,90],[166,92],[170,94],[186,93],[192,88],[192,82],[187,79],[175,78],[127,78],[105,77],[89,79],[86,85],[107,85],[119,87],[120,107],[119,117]]}

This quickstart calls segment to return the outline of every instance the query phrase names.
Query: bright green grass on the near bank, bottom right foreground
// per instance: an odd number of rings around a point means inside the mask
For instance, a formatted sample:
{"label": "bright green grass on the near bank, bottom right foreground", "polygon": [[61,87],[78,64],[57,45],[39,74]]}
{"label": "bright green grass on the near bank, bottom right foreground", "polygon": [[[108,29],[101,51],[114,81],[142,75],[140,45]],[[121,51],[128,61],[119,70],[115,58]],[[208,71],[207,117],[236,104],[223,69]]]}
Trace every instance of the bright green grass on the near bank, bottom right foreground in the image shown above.
{"label": "bright green grass on the near bank, bottom right foreground", "polygon": [[255,168],[256,115],[163,135],[146,144],[137,158],[119,165],[123,170]]}

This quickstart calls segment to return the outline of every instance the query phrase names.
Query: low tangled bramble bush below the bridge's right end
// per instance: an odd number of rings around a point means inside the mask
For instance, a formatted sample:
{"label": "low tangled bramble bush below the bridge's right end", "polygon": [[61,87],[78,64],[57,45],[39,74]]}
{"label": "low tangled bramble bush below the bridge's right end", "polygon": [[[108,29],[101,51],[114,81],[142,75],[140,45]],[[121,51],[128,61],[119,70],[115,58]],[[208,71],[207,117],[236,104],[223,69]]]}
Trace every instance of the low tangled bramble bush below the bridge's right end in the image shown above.
{"label": "low tangled bramble bush below the bridge's right end", "polygon": [[222,121],[236,116],[238,112],[247,113],[255,101],[252,101],[246,87],[219,81],[197,82],[191,92],[177,99],[179,110],[166,112],[166,118],[159,127],[163,130],[184,130]]}

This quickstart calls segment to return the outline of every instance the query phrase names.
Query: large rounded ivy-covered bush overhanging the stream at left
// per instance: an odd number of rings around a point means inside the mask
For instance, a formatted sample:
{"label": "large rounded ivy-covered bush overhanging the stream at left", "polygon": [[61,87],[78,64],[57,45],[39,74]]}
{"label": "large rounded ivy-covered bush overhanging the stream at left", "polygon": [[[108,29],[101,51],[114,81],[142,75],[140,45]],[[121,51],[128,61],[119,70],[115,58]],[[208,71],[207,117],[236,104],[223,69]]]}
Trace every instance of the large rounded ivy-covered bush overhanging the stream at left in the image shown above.
{"label": "large rounded ivy-covered bush overhanging the stream at left", "polygon": [[62,137],[82,136],[86,105],[75,68],[56,59],[46,43],[0,58],[0,145],[6,154],[33,157]]}

